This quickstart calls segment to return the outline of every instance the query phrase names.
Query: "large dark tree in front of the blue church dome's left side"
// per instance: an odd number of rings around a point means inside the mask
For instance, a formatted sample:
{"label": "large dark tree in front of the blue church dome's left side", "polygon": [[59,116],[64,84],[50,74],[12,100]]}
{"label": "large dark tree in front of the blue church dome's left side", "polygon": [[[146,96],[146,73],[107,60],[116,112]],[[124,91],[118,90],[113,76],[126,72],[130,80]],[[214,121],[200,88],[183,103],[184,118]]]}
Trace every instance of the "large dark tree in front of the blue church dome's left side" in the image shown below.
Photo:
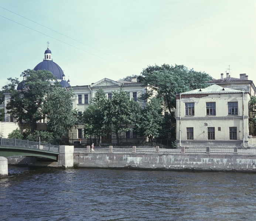
{"label": "large dark tree in front of the blue church dome's left side", "polygon": [[[37,129],[37,121],[44,119],[46,113],[43,112],[45,96],[51,92],[56,83],[56,78],[50,71],[25,70],[21,76],[24,80],[19,82],[16,79],[8,78],[10,84],[3,88],[11,93],[10,102],[6,109],[8,113],[16,118],[23,119],[30,123],[31,133]],[[17,84],[20,90],[16,90]]]}

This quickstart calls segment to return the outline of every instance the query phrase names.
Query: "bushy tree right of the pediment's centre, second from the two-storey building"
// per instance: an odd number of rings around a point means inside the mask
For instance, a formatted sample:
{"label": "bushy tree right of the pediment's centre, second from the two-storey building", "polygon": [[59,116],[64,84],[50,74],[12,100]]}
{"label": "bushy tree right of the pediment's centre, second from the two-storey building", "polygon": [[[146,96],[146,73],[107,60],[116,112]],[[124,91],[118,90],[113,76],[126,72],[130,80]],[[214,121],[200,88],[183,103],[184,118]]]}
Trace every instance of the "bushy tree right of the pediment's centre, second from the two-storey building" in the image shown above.
{"label": "bushy tree right of the pediment's centre, second from the two-storey building", "polygon": [[139,108],[139,104],[130,101],[127,92],[122,89],[113,91],[112,99],[107,100],[103,126],[116,135],[117,143],[120,143],[119,133],[129,131],[130,125],[136,121],[134,113],[138,113]]}

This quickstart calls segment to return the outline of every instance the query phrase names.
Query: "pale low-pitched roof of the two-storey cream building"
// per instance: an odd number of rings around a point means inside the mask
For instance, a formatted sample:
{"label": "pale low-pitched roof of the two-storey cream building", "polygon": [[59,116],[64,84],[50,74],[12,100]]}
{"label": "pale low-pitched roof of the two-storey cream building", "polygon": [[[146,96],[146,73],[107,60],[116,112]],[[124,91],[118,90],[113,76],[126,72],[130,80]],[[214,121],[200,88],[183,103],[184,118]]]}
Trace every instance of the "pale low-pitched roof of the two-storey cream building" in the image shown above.
{"label": "pale low-pitched roof of the two-storey cream building", "polygon": [[217,84],[213,84],[209,87],[206,88],[202,88],[202,89],[196,89],[196,90],[192,90],[192,91],[187,91],[181,94],[209,94],[209,93],[239,93],[241,91],[239,90],[235,90],[235,89],[231,89],[231,88],[223,88]]}

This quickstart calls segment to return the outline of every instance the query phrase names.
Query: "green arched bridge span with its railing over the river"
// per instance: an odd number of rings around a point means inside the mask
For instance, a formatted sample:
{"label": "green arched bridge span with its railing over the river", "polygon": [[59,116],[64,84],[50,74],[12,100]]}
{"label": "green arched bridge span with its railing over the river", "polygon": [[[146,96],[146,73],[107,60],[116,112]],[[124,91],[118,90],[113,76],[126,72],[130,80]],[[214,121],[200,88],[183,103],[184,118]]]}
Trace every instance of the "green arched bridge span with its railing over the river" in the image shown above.
{"label": "green arched bridge span with its railing over the river", "polygon": [[38,157],[58,161],[59,146],[40,142],[0,137],[1,157]]}

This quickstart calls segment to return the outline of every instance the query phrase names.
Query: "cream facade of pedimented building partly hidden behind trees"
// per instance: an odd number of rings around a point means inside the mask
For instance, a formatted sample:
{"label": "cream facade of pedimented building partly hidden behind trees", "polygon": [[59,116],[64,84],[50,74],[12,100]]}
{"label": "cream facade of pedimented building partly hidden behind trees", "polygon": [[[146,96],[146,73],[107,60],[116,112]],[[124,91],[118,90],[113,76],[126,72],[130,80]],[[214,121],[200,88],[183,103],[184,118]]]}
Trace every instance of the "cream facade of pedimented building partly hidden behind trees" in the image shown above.
{"label": "cream facade of pedimented building partly hidden behind trees", "polygon": [[[78,114],[82,116],[82,113],[88,108],[91,104],[92,98],[95,96],[95,93],[102,89],[107,98],[112,98],[112,92],[117,91],[122,88],[127,94],[130,96],[131,100],[139,102],[140,106],[145,106],[146,101],[139,101],[138,98],[145,94],[147,91],[147,87],[144,87],[142,83],[137,83],[136,78],[132,78],[132,82],[130,81],[113,81],[108,78],[104,78],[96,83],[91,85],[82,85],[82,86],[74,86],[72,87],[73,92],[75,94],[73,108],[78,111]],[[137,135],[131,130],[126,133],[120,133],[120,138],[122,141],[131,142],[134,141],[143,141],[144,139],[137,137]],[[70,143],[76,143],[81,140],[81,143],[86,144],[89,143],[88,138],[85,138],[83,135],[83,124],[80,123],[78,127],[73,128],[69,131],[69,141]],[[116,143],[116,138],[113,134],[107,134],[105,137],[102,137],[102,143]]]}

